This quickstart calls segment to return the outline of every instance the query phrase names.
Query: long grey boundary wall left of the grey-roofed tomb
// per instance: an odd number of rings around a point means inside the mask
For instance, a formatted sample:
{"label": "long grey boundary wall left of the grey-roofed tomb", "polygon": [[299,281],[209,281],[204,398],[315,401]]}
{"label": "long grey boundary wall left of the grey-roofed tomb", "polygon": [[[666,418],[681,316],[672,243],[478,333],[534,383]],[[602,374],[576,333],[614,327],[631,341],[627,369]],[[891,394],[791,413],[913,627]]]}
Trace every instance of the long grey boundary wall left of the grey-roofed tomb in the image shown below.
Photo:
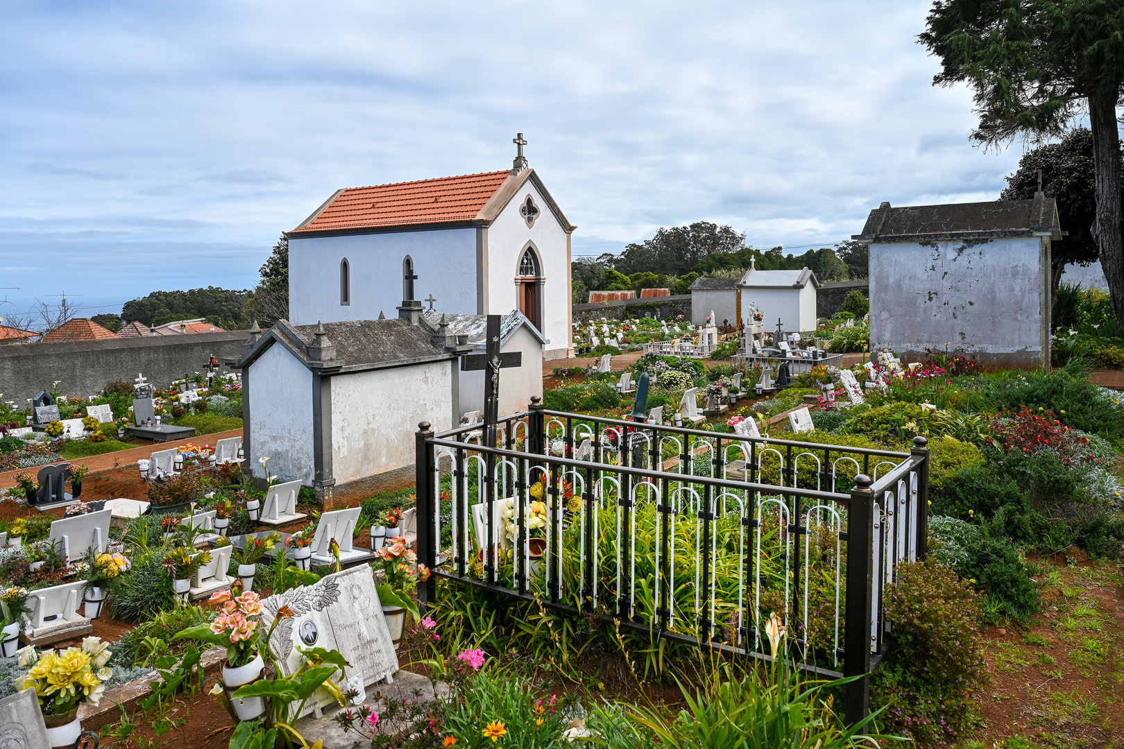
{"label": "long grey boundary wall left of the grey-roofed tomb", "polygon": [[225,330],[0,346],[0,393],[18,407],[39,391],[49,392],[57,380],[60,392],[89,396],[108,382],[133,382],[137,373],[164,387],[185,372],[201,372],[211,354],[220,362],[237,359],[246,336]]}

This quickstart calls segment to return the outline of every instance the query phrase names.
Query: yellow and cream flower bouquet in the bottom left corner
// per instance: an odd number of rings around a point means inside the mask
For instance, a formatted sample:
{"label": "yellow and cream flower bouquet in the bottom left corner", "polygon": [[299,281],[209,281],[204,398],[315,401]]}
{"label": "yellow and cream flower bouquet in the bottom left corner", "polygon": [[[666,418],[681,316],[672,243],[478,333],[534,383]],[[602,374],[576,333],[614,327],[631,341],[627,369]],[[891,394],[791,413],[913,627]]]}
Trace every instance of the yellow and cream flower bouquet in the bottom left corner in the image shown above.
{"label": "yellow and cream flower bouquet in the bottom left corner", "polygon": [[65,715],[83,702],[96,705],[106,691],[103,682],[111,676],[106,664],[112,652],[97,637],[84,638],[81,648],[61,652],[39,655],[28,646],[17,654],[20,668],[28,670],[16,681],[16,688],[34,687],[44,715]]}

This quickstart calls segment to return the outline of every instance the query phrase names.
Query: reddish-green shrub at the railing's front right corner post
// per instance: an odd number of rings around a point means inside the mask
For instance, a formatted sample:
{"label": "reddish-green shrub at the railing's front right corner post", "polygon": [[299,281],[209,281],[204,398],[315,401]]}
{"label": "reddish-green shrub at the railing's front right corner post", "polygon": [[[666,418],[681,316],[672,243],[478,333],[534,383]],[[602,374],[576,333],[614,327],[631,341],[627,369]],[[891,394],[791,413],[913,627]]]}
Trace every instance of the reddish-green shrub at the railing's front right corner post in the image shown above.
{"label": "reddish-green shrub at the railing's front right corner post", "polygon": [[937,561],[898,567],[888,614],[894,645],[871,677],[871,706],[888,732],[919,746],[957,743],[984,686],[982,613],[970,585]]}

